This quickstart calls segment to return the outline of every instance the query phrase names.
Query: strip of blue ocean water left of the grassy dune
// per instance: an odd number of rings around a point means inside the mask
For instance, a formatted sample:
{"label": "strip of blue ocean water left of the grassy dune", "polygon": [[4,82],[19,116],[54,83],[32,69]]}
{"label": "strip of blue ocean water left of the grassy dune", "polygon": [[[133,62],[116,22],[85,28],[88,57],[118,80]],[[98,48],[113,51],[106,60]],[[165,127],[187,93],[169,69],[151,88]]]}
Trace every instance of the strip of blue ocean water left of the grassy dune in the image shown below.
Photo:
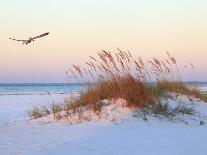
{"label": "strip of blue ocean water left of the grassy dune", "polygon": [[68,92],[80,91],[84,84],[72,83],[7,83],[0,84],[0,96],[2,95],[44,95],[66,94]]}

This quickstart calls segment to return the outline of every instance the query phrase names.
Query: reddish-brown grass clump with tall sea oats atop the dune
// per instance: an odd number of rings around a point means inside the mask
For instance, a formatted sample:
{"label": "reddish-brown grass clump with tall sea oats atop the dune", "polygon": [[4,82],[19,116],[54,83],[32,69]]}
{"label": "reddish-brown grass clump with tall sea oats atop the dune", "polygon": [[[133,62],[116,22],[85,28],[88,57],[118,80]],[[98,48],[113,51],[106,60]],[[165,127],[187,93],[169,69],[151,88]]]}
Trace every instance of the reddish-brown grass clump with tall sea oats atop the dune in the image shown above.
{"label": "reddish-brown grass clump with tall sea oats atop the dune", "polygon": [[144,60],[119,48],[113,53],[102,50],[82,65],[72,64],[66,74],[72,82],[87,84],[77,98],[65,100],[61,110],[67,114],[81,113],[86,108],[100,113],[104,99],[123,98],[127,107],[143,108],[155,104],[167,92],[207,98],[181,82],[177,61],[168,52],[164,59]]}

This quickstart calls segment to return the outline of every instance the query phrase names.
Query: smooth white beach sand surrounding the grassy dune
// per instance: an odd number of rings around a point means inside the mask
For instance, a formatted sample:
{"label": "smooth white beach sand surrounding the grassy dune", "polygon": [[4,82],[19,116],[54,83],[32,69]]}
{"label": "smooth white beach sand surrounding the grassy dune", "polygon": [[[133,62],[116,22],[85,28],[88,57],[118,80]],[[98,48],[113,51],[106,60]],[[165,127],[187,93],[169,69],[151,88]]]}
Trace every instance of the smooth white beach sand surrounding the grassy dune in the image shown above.
{"label": "smooth white beach sand surrounding the grassy dune", "polygon": [[[65,95],[52,98],[61,102]],[[0,96],[0,155],[206,155],[207,125],[200,121],[207,123],[207,103],[185,97],[179,101],[193,106],[196,115],[145,122],[122,109],[116,114],[126,115],[116,122],[95,119],[69,125],[28,120],[27,110],[49,105],[50,96]],[[170,100],[171,106],[177,104]]]}

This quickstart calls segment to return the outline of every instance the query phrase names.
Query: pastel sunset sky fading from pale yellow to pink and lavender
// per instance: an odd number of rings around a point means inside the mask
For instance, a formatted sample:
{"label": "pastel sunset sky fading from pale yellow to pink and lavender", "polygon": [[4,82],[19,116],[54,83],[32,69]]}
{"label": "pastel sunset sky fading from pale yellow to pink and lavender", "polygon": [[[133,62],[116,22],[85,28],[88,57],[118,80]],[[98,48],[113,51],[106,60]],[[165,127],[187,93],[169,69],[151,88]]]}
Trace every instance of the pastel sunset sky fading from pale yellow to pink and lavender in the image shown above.
{"label": "pastel sunset sky fading from pale yellow to pink and lavender", "polygon": [[[8,39],[44,32],[28,46]],[[71,64],[117,47],[144,58],[168,51],[194,64],[183,80],[207,81],[206,0],[0,0],[0,34],[0,83],[65,82]]]}

